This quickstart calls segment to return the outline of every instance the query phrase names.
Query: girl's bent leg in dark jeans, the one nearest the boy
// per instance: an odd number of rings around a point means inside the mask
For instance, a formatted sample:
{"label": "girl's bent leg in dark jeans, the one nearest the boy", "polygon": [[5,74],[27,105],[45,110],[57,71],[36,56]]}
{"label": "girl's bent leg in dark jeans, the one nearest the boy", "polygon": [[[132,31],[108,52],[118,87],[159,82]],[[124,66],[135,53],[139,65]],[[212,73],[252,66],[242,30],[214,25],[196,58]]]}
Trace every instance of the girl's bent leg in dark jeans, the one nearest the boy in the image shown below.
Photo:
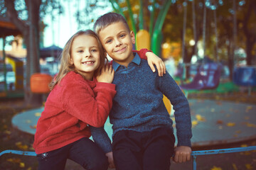
{"label": "girl's bent leg in dark jeans, the one nearest the boy", "polygon": [[108,161],[105,153],[95,142],[88,138],[82,138],[73,143],[70,148],[69,159],[77,162],[87,170],[107,170]]}

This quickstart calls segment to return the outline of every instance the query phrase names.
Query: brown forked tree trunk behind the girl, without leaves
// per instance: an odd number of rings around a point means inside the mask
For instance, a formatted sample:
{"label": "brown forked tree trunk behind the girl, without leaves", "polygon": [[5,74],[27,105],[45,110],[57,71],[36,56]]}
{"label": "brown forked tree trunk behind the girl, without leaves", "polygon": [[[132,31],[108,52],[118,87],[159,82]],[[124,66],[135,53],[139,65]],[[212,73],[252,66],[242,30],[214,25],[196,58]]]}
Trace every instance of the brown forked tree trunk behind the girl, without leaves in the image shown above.
{"label": "brown forked tree trunk behind the girl, without leaves", "polygon": [[42,95],[32,94],[30,90],[30,77],[33,73],[40,72],[39,64],[39,8],[41,0],[25,0],[28,8],[28,21],[21,21],[14,8],[14,0],[4,1],[7,16],[14,25],[21,30],[25,40],[26,55],[26,86],[25,101],[27,105],[41,105]]}

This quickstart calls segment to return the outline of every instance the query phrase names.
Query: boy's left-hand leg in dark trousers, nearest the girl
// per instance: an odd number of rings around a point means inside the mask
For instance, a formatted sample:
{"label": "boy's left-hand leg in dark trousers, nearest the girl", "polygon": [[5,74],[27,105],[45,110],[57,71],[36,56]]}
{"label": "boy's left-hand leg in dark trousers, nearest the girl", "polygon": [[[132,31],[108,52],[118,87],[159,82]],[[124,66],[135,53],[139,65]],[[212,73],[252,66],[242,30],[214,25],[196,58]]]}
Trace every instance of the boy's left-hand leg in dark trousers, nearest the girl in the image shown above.
{"label": "boy's left-hand leg in dark trousers, nearest the girl", "polygon": [[142,170],[140,132],[121,130],[113,138],[114,165],[117,170]]}

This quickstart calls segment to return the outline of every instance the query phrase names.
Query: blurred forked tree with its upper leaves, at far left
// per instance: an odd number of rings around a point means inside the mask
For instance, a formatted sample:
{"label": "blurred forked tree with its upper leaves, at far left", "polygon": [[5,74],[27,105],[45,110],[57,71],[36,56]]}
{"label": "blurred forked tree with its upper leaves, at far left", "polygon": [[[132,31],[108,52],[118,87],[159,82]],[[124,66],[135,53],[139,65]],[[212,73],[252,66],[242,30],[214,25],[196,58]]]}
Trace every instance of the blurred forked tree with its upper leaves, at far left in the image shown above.
{"label": "blurred forked tree with its upper leaves, at far left", "polygon": [[21,31],[26,45],[26,87],[25,101],[29,105],[41,104],[42,96],[32,94],[30,91],[30,77],[33,73],[40,72],[39,64],[39,33],[41,18],[48,9],[58,8],[62,11],[56,0],[1,0],[0,15],[8,17],[16,28]]}

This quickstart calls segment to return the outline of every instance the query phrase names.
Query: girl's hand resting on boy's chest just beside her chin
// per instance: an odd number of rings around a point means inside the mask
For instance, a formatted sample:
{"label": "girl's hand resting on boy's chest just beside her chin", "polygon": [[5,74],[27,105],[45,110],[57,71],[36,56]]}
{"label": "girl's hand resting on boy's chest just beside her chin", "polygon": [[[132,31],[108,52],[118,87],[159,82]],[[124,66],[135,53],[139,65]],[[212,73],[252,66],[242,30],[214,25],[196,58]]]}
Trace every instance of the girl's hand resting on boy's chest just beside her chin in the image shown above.
{"label": "girl's hand resting on boy's chest just beside her chin", "polygon": [[112,83],[114,79],[114,69],[112,65],[105,64],[105,67],[102,68],[100,75],[97,76],[97,81],[102,83]]}

